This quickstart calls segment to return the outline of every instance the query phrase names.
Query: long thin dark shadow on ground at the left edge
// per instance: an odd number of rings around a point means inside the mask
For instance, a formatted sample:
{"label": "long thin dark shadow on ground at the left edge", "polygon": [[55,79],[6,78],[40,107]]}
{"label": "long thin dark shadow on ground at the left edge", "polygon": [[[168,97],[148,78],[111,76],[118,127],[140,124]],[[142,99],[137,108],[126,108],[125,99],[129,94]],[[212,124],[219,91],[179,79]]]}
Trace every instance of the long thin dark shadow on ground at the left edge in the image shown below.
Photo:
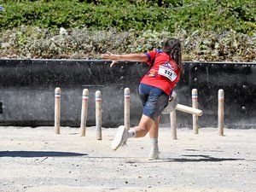
{"label": "long thin dark shadow on ground at the left edge", "polygon": [[84,155],[88,154],[59,151],[0,151],[0,157],[73,157]]}

